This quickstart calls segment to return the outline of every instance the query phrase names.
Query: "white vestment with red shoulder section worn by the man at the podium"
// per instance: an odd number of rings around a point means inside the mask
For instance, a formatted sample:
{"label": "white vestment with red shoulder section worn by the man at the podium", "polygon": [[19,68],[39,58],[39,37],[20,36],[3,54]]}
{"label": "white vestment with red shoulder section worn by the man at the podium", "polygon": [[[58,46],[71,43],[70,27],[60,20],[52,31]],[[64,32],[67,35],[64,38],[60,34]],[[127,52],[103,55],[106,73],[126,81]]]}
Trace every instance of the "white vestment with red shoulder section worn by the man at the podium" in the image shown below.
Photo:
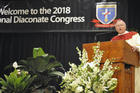
{"label": "white vestment with red shoulder section worn by the man at the podium", "polygon": [[[140,35],[137,32],[132,31],[114,36],[111,41],[114,40],[125,40],[131,46],[136,46],[140,53]],[[135,68],[135,93],[140,93],[140,67]]]}

